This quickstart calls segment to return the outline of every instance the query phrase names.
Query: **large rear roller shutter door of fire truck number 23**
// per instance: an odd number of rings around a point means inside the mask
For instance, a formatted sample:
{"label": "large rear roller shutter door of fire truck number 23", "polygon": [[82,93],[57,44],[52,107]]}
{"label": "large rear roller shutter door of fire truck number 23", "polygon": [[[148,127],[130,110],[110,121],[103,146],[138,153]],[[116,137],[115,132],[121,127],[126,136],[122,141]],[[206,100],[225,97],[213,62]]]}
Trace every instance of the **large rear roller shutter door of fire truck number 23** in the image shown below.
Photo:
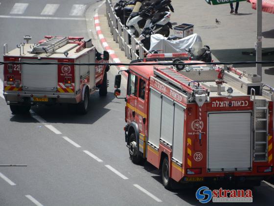
{"label": "large rear roller shutter door of fire truck number 23", "polygon": [[251,112],[208,114],[208,169],[250,171]]}

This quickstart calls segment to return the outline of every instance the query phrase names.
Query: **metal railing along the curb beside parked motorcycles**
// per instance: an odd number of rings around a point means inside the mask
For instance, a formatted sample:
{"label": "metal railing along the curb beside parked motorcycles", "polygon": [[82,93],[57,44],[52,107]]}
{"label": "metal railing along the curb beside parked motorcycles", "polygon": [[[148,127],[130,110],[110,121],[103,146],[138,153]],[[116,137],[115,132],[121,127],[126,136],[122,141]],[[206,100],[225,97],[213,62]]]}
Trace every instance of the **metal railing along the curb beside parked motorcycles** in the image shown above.
{"label": "metal railing along the curb beside parked motorcycles", "polygon": [[[125,56],[132,60],[144,58],[144,53],[148,50],[135,38],[136,36],[128,27],[121,23],[114,11],[112,0],[106,0],[106,14],[113,40],[119,44],[119,48],[125,52]],[[139,49],[137,50],[137,48]]]}

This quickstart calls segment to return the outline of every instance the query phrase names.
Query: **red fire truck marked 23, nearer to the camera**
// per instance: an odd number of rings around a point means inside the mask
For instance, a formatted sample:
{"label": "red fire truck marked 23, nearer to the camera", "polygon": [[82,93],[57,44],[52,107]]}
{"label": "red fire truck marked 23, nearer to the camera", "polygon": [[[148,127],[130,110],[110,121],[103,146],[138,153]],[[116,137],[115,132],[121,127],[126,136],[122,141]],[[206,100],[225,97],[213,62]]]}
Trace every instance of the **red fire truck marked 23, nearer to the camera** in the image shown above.
{"label": "red fire truck marked 23, nearer to the camera", "polygon": [[126,71],[124,130],[131,160],[160,169],[166,188],[225,180],[258,185],[272,176],[274,88],[256,75],[187,60],[186,54],[169,57],[199,65],[138,66],[174,59],[161,55],[135,60]]}

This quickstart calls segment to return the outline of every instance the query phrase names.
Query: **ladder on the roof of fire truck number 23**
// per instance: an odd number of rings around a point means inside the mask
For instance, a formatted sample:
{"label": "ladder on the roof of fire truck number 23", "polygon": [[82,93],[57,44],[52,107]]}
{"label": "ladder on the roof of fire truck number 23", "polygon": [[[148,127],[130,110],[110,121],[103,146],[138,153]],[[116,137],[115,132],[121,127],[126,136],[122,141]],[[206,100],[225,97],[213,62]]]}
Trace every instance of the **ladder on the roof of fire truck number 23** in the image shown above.
{"label": "ladder on the roof of fire truck number 23", "polygon": [[[171,82],[175,86],[185,90],[188,93],[192,93],[193,90],[205,90],[206,91],[206,89],[204,89],[203,87],[197,86],[197,84],[195,84],[195,82],[193,80],[183,76],[179,72],[177,72],[174,69],[169,68],[169,67],[154,68],[154,74],[165,79],[168,82]],[[191,84],[191,82],[192,82],[192,84]]]}

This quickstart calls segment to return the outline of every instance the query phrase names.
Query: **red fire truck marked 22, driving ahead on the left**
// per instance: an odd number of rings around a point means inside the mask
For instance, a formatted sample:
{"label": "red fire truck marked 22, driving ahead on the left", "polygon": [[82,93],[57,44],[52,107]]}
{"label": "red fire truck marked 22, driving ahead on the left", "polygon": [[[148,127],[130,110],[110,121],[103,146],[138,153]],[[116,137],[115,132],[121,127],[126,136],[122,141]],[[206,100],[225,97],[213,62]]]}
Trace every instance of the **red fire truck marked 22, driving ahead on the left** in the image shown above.
{"label": "red fire truck marked 22, driving ahead on the left", "polygon": [[[26,44],[7,51],[4,45],[4,97],[14,114],[28,112],[31,105],[71,103],[88,112],[90,95],[99,89],[107,95],[109,66],[66,65],[109,60],[109,53],[97,52],[84,37],[45,36],[38,44]],[[16,64],[13,62],[22,62]],[[34,64],[31,64],[34,63]],[[44,64],[35,64],[44,63]],[[47,64],[56,63],[56,64]],[[63,64],[57,64],[63,63]]]}

